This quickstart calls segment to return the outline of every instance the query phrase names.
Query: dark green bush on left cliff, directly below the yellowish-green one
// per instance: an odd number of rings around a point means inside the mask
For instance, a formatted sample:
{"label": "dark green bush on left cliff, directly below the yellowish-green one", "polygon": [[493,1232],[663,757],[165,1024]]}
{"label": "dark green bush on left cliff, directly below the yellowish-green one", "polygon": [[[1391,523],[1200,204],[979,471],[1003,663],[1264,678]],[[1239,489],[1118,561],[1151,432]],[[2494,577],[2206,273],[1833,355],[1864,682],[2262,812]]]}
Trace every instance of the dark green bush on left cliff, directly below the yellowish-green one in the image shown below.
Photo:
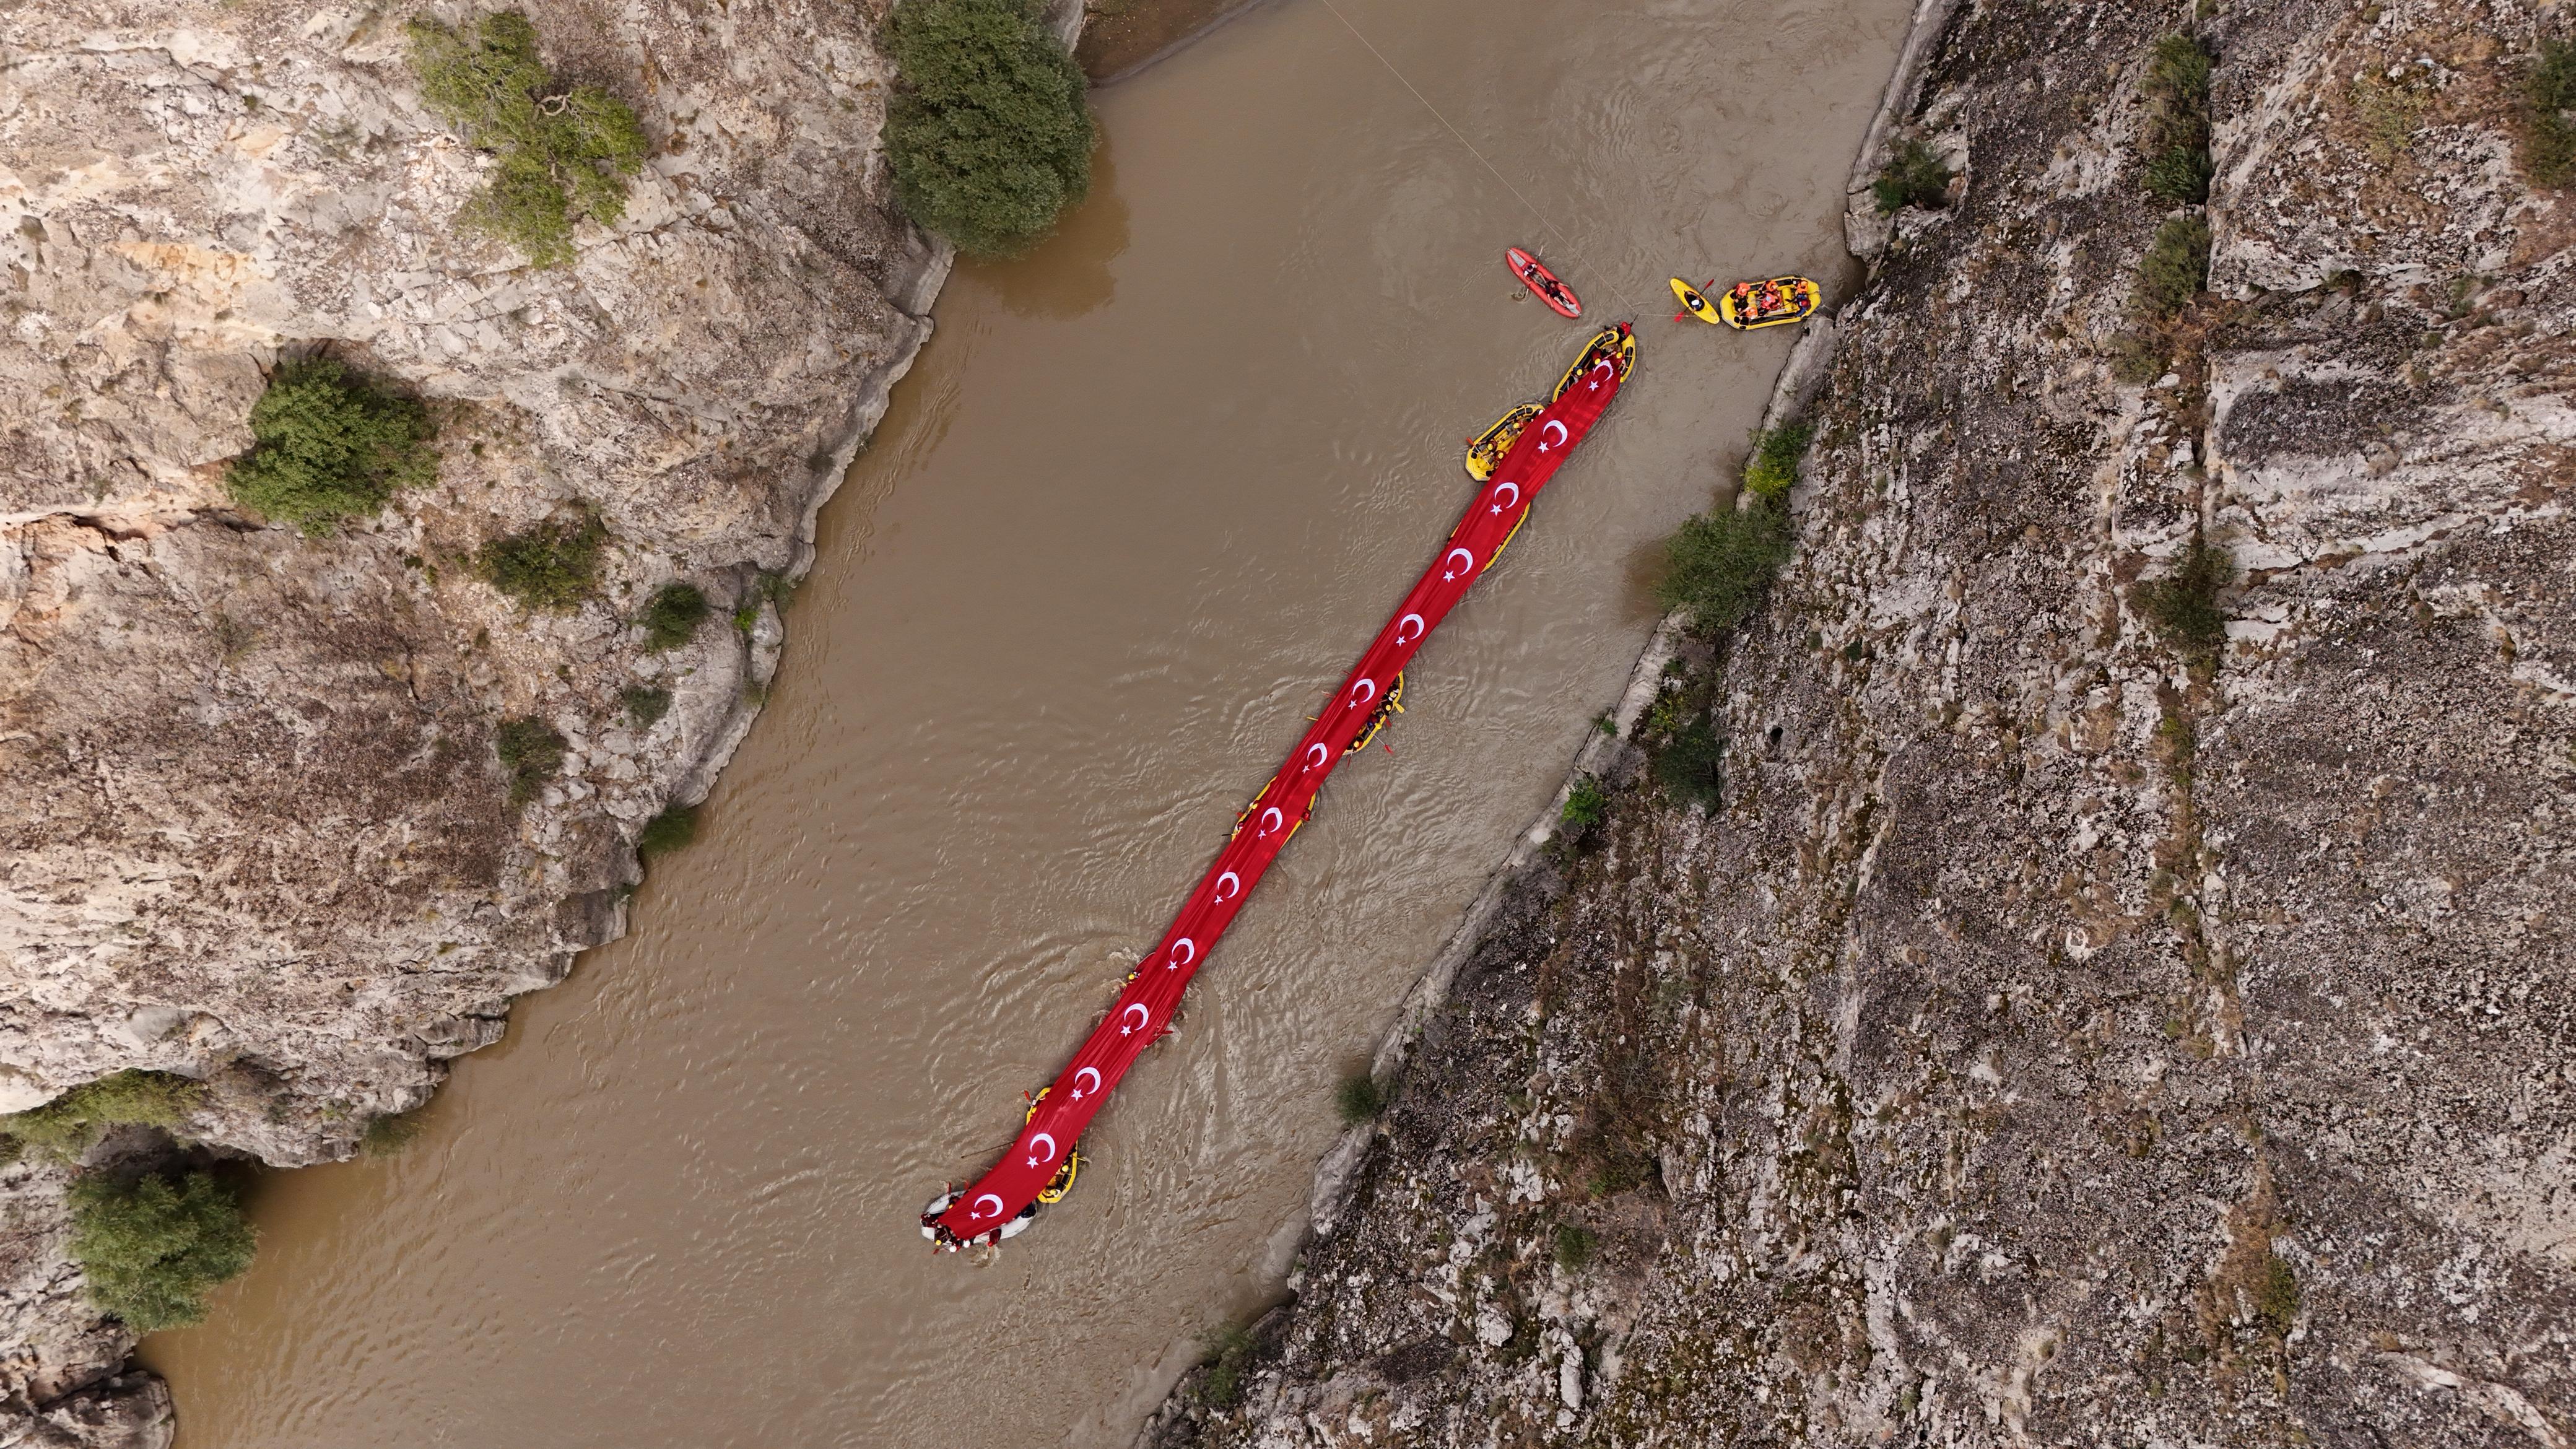
{"label": "dark green bush on left cliff, directly below the yellowish-green one", "polygon": [[327,534],[438,477],[430,410],[330,358],[291,361],[250,405],[250,451],[224,485],[252,513]]}

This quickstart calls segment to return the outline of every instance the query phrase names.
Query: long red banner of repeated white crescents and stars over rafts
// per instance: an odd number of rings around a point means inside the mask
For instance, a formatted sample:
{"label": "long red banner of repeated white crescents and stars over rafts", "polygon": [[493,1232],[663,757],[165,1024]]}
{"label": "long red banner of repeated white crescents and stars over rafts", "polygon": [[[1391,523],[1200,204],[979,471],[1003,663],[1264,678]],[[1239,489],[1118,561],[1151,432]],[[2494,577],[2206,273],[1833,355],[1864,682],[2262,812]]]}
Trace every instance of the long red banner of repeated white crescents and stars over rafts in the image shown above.
{"label": "long red banner of repeated white crescents and stars over rafts", "polygon": [[[1625,333],[1625,325],[1620,327]],[[1368,727],[1368,717],[1386,699],[1396,673],[1422,650],[1422,639],[1448,619],[1468,585],[1494,565],[1494,554],[1512,539],[1512,531],[1530,513],[1538,490],[1556,477],[1566,454],[1584,441],[1610,400],[1618,397],[1623,371],[1602,358],[1566,387],[1520,433],[1520,441],[1502,456],[1502,467],[1468,505],[1466,516],[1443,544],[1440,559],[1422,572],[1396,614],[1378,629],[1378,637],[1360,655],[1358,668],[1306,730],[1280,773],[1252,797],[1252,807],[1234,828],[1234,838],[1216,853],[1216,864],[1180,908],[1180,918],[1162,933],[1162,944],[1136,964],[1136,975],[1108,1018],[1090,1042],[1074,1052],[1054,1091],[1038,1098],[1036,1114],[1020,1129],[1018,1142],[1002,1152],[984,1178],[969,1186],[940,1214],[938,1225],[961,1240],[992,1232],[1038,1199],[1038,1189],[1056,1176],[1103,1098],[1118,1085],[1136,1057],[1172,1026],[1180,1011],[1180,993],[1208,959],[1216,938],[1234,923],[1244,897],[1260,884],[1262,871],[1278,859],[1280,846],[1314,810],[1324,776],[1342,763],[1342,753]]]}

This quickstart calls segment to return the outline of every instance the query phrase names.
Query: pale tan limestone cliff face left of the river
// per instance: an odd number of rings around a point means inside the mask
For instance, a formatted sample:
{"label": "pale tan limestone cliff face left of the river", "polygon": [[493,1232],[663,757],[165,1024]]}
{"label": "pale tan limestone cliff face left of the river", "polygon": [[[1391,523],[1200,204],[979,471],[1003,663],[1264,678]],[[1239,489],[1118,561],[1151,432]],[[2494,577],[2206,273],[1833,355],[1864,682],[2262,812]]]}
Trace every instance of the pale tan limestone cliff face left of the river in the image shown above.
{"label": "pale tan limestone cliff face left of the river", "polygon": [[[750,724],[768,580],[948,263],[886,196],[884,5],[515,3],[654,142],[554,271],[453,227],[492,160],[422,113],[407,8],[5,10],[0,1111],[160,1067],[209,1085],[193,1140],[348,1155],[621,931],[636,830]],[[440,418],[435,485],[332,539],[222,480],[309,353]],[[466,567],[574,505],[611,534],[600,598],[526,614]],[[716,619],[647,655],[670,580]],[[670,712],[631,722],[631,686]],[[572,745],[526,810],[492,750],[518,714]],[[0,1441],[165,1434],[147,1379],[31,1413],[126,1348],[59,1258],[62,1181],[0,1168]]]}

